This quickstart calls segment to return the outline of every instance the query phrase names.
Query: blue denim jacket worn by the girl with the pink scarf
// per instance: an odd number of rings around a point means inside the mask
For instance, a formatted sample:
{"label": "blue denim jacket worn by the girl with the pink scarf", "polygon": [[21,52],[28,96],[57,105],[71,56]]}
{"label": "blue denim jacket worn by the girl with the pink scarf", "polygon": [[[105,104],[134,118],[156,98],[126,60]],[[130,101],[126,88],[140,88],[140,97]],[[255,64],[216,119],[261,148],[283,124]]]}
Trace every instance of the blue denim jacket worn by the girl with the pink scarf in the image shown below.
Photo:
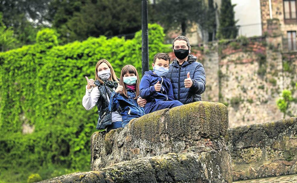
{"label": "blue denim jacket worn by the girl with the pink scarf", "polygon": [[128,98],[113,92],[110,96],[110,103],[108,106],[111,112],[116,111],[120,106],[120,109],[122,110],[122,123],[124,125],[128,124],[133,118],[145,115],[143,107],[139,107],[137,99],[134,99],[136,97],[136,93],[133,90],[127,88],[127,97]]}

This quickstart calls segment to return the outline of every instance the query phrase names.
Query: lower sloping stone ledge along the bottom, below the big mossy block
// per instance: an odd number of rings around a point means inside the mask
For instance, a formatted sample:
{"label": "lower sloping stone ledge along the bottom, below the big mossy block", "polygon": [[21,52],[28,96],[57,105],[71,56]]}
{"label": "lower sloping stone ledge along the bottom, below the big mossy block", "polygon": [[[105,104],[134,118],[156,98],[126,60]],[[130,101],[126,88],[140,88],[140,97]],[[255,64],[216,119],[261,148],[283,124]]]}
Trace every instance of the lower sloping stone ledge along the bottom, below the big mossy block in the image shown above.
{"label": "lower sloping stone ledge along the bottom, below the big mossy block", "polygon": [[[216,158],[216,155],[222,158]],[[98,171],[76,172],[42,181],[41,183],[156,183],[156,182],[232,182],[231,162],[219,154],[203,152],[165,154],[124,161]],[[216,159],[217,161],[212,161]],[[220,169],[221,167],[224,167]]]}

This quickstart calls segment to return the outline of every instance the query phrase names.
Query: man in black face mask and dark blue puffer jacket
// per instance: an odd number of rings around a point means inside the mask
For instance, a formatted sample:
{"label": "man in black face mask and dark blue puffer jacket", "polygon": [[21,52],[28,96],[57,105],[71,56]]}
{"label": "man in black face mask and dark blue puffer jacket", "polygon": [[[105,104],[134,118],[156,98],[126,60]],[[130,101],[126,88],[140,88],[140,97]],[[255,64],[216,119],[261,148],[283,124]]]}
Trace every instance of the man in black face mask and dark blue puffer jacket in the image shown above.
{"label": "man in black face mask and dark blue puffer jacket", "polygon": [[[197,57],[190,54],[189,39],[178,36],[173,40],[172,49],[176,58],[169,66],[167,78],[173,87],[174,98],[183,104],[201,101],[205,91],[206,76],[203,65],[196,62]],[[144,107],[146,100],[139,98],[139,106]]]}

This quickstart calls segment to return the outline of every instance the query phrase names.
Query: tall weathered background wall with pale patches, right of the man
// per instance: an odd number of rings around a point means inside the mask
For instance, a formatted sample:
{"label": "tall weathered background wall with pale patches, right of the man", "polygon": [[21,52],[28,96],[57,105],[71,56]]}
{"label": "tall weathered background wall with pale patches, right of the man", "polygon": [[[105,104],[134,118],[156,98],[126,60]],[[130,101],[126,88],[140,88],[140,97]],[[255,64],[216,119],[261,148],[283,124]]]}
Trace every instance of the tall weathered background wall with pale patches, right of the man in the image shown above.
{"label": "tall weathered background wall with pale patches, right of the man", "polygon": [[[280,36],[235,40],[200,55],[206,72],[202,100],[228,106],[229,127],[282,119],[276,105],[282,91],[297,98],[297,54],[282,53],[280,43]],[[288,110],[296,116],[296,103]]]}

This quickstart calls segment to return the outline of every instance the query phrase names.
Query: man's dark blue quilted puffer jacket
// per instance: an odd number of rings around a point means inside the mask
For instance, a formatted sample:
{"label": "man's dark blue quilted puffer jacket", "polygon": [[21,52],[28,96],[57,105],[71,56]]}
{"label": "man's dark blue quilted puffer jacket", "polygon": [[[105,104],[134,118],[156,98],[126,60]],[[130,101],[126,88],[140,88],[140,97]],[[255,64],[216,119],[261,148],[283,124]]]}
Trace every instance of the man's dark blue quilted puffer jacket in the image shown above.
{"label": "man's dark blue quilted puffer jacket", "polygon": [[[201,95],[205,91],[206,76],[204,67],[200,62],[196,62],[197,57],[190,54],[187,61],[179,65],[176,58],[169,66],[167,78],[170,79],[173,88],[174,98],[183,104],[201,101]],[[193,81],[191,88],[185,88],[184,80],[187,73]]]}

